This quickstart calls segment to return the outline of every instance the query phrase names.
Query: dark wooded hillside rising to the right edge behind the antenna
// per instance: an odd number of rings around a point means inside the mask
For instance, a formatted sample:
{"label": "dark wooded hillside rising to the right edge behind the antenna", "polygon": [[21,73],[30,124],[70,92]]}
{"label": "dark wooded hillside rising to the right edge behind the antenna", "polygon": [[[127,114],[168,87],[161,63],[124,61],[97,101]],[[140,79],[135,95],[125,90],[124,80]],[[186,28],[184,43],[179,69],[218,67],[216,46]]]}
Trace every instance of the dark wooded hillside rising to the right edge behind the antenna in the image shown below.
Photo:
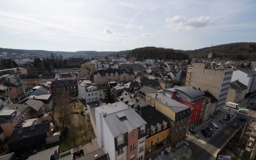
{"label": "dark wooded hillside rising to the right edge behind the antenna", "polygon": [[[186,50],[190,58],[207,58],[211,47]],[[256,43],[239,42],[212,46],[213,58],[230,58],[232,60],[256,60]]]}

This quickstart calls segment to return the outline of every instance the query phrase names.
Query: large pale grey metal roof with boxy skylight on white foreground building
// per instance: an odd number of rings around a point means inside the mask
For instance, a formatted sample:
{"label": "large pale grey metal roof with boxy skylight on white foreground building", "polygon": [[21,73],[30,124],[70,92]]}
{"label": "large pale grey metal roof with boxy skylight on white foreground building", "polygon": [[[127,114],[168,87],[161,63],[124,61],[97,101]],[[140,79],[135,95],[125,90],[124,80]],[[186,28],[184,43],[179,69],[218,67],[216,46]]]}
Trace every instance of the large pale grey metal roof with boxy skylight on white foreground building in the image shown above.
{"label": "large pale grey metal roof with boxy skylight on white foreground building", "polygon": [[[117,137],[119,134],[125,134],[133,129],[137,129],[142,124],[147,124],[133,108],[129,108],[126,104],[122,102],[116,102],[113,104],[108,104],[105,106],[100,106],[96,108],[98,113],[102,116],[102,113],[107,113],[103,116],[110,132],[113,137]],[[122,113],[122,117],[118,117],[118,113]]]}

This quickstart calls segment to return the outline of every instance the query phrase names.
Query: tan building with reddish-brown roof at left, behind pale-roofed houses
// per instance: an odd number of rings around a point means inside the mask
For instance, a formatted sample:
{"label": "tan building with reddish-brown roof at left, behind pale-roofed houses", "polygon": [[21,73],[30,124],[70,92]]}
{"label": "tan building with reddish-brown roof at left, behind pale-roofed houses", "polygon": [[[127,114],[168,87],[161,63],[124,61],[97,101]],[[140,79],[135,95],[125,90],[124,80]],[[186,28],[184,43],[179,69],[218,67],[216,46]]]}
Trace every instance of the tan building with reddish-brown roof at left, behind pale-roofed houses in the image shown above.
{"label": "tan building with reddish-brown roof at left, behind pale-roofed houses", "polygon": [[38,86],[41,83],[40,76],[38,75],[25,75],[21,78],[24,82],[24,87],[26,91],[31,90],[35,86]]}

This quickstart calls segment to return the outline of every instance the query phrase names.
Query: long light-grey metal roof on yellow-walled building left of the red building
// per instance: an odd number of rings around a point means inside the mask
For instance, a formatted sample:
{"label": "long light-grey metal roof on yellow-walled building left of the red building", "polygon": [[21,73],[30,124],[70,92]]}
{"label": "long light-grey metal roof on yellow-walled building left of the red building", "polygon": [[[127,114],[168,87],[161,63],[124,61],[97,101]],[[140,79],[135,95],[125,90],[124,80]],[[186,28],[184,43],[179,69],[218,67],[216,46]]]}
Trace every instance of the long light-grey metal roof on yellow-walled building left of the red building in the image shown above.
{"label": "long light-grey metal roof on yellow-walled building left of the red building", "polygon": [[190,108],[190,107],[186,106],[185,104],[182,104],[172,98],[166,97],[160,93],[158,93],[157,96],[155,93],[151,93],[151,94],[147,94],[147,95],[150,96],[151,98],[157,100],[158,102],[161,102],[162,104],[165,104],[166,106],[169,106],[170,109],[176,113]]}

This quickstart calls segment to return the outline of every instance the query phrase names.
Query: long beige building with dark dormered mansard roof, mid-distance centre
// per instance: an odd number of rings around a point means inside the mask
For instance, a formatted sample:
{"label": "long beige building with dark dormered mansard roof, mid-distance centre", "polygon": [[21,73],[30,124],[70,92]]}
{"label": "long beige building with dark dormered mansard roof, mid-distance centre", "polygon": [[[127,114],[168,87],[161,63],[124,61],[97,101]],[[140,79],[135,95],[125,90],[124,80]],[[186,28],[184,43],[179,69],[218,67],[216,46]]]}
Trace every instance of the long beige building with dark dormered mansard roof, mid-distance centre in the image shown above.
{"label": "long beige building with dark dormered mansard roof, mid-distance centre", "polygon": [[94,83],[101,84],[107,82],[128,82],[129,81],[129,74],[127,70],[122,69],[104,69],[104,70],[97,70],[94,73]]}

